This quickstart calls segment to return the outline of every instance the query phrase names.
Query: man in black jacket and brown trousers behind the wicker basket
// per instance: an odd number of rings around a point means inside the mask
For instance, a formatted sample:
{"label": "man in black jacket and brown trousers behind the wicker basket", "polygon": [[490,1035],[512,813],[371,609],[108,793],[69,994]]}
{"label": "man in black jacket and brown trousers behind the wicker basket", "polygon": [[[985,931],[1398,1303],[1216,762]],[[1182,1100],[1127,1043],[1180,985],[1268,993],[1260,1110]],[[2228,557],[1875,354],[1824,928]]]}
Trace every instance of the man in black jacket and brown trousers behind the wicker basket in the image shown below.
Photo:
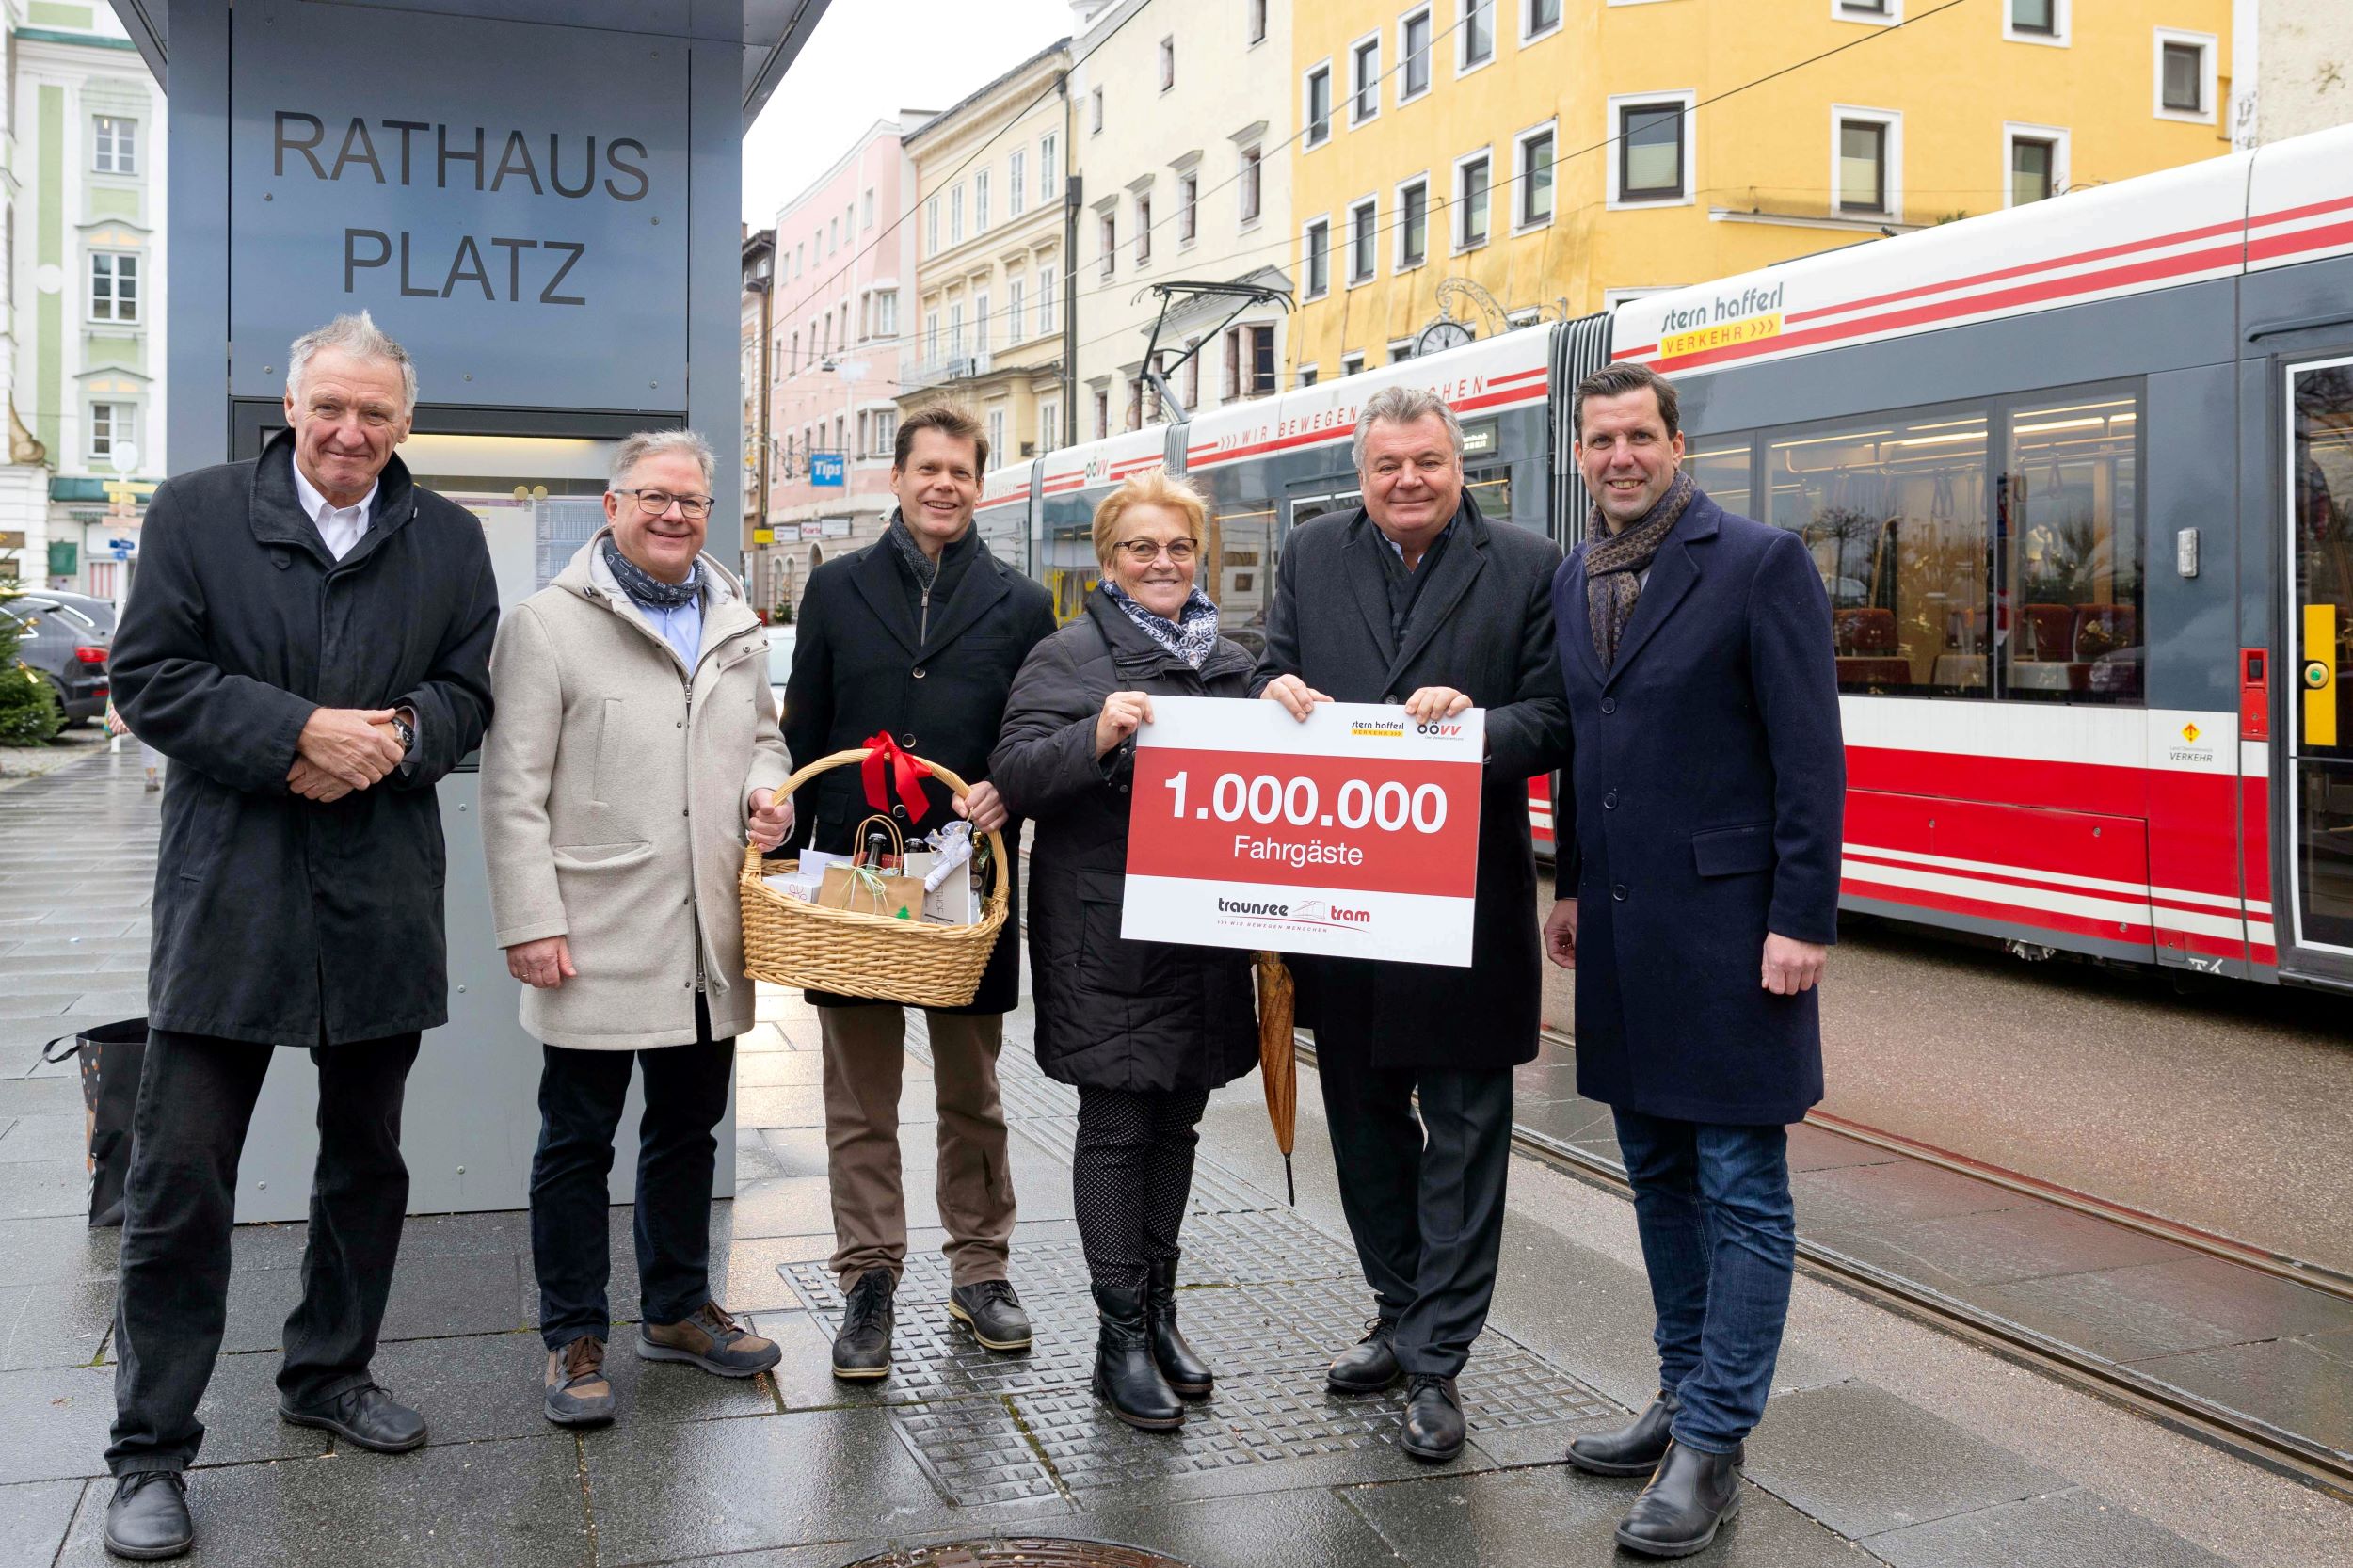
{"label": "man in black jacket and brown trousers behind the wicker basket", "polygon": [[[894,746],[972,784],[955,800],[939,779],[908,793],[866,775],[911,779],[913,768],[835,768],[802,786],[795,848],[845,855],[859,824],[885,812],[911,833],[951,815],[974,833],[1019,824],[988,784],[988,753],[1005,697],[1031,647],[1054,631],[1047,591],[988,553],[972,527],[988,440],[958,407],[929,407],[899,426],[889,532],[809,574],[800,600],[784,739],[800,765],[856,746]],[[991,876],[1012,876],[998,866]],[[998,1104],[998,1043],[1021,994],[1019,895],[979,994],[965,1008],[927,1008],[939,1092],[939,1220],[948,1231],[948,1316],[993,1351],[1026,1351],[1028,1314],[1005,1278],[1014,1184]],[[889,1375],[892,1295],[906,1267],[906,1196],[899,1172],[899,1083],[906,1012],[899,1003],[809,991],[824,1036],[826,1175],[833,1191],[833,1271],[845,1295],[833,1375]]]}

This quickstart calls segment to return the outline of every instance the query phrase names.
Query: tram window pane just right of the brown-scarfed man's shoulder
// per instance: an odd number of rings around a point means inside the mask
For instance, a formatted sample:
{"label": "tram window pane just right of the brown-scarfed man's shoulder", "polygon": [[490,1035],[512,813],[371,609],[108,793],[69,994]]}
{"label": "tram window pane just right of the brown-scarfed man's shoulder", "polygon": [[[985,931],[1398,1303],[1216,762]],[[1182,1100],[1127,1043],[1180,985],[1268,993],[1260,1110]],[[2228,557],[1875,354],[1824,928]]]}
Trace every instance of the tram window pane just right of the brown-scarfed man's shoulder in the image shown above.
{"label": "tram window pane just right of the brown-scarfed man's shoulder", "polygon": [[1986,414],[1772,436],[1765,490],[1769,520],[1805,539],[1831,593],[1840,690],[1986,692]]}

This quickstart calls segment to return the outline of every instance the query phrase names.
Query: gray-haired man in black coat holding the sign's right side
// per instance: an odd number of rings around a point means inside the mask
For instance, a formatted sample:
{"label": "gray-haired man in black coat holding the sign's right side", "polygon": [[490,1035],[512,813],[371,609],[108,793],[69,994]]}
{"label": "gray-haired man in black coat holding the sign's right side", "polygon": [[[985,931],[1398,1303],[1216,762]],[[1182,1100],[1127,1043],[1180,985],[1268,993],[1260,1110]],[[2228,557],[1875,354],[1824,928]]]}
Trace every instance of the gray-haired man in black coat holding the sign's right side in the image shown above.
{"label": "gray-haired man in black coat holding the sign's right side", "polygon": [[[1537,1055],[1544,961],[1527,779],[1562,763],[1569,725],[1553,659],[1560,551],[1489,525],[1464,494],[1461,452],[1438,393],[1391,386],[1365,403],[1353,452],[1365,506],[1292,534],[1252,673],[1252,687],[1304,725],[1304,751],[1344,723],[1320,704],[1402,704],[1407,735],[1485,711],[1468,963],[1292,961],[1341,1208],[1379,1309],[1327,1382],[1372,1394],[1407,1377],[1398,1441],[1417,1460],[1452,1460],[1464,1446],[1454,1377],[1494,1295],[1511,1069]],[[1407,819],[1412,805],[1407,793]],[[1461,845],[1426,855],[1431,871],[1459,857]]]}

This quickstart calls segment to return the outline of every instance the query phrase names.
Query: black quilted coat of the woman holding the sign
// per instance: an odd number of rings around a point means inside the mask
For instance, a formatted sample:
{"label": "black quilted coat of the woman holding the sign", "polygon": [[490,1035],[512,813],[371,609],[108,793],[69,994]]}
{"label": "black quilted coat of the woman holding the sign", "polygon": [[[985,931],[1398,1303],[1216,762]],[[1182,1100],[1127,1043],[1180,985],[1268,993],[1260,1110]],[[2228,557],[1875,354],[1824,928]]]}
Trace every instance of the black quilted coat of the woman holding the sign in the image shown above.
{"label": "black quilted coat of the woman holding the sign", "polygon": [[1031,652],[991,758],[1031,817],[1031,989],[1047,1078],[1115,1090],[1231,1083],[1259,1064],[1249,954],[1122,942],[1129,737],[1094,753],[1111,692],[1249,697],[1249,655],[1219,638],[1200,673],[1096,589],[1087,612]]}

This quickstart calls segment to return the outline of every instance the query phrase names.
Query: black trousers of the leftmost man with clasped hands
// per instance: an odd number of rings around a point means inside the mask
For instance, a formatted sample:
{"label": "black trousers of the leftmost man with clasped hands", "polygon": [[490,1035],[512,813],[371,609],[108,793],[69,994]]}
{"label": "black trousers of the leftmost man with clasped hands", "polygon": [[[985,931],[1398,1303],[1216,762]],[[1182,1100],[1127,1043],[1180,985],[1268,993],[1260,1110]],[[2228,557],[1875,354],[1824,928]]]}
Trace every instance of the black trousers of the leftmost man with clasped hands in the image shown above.
{"label": "black trousers of the leftmost man with clasped hands", "polygon": [[[278,1394],[318,1406],[367,1382],[400,1260],[409,1168],[400,1097],[416,1034],[311,1052],[318,1064],[318,1168],[301,1304],[287,1316]],[[228,1316],[228,1231],[238,1158],[273,1045],[155,1029],[132,1116],[115,1297],[115,1429],[106,1467],[186,1469],[205,1443],[195,1406]]]}

